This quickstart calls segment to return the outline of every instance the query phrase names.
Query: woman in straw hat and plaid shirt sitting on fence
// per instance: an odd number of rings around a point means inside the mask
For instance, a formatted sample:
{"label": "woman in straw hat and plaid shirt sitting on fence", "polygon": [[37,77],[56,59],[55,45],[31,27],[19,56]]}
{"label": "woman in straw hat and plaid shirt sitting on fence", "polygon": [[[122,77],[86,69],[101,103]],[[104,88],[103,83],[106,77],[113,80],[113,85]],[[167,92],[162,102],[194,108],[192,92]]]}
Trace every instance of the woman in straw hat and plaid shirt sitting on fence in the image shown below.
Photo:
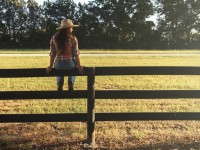
{"label": "woman in straw hat and plaid shirt sitting on fence", "polygon": [[[46,71],[49,73],[51,69],[71,70],[78,68],[79,72],[83,73],[83,67],[80,64],[78,40],[72,34],[74,25],[72,20],[63,19],[61,26],[57,28],[58,32],[51,38],[50,41],[50,65]],[[68,76],[68,90],[73,91],[76,76]],[[63,90],[64,76],[57,77],[58,91]]]}

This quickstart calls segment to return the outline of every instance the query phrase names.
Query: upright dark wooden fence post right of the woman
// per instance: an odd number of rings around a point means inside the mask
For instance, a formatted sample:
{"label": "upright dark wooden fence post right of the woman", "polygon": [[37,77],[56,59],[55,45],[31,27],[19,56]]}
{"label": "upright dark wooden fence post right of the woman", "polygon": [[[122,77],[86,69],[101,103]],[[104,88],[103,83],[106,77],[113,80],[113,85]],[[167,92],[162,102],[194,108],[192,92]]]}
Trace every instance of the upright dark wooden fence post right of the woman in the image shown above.
{"label": "upright dark wooden fence post right of the woman", "polygon": [[87,142],[95,146],[95,68],[89,69],[87,76]]}

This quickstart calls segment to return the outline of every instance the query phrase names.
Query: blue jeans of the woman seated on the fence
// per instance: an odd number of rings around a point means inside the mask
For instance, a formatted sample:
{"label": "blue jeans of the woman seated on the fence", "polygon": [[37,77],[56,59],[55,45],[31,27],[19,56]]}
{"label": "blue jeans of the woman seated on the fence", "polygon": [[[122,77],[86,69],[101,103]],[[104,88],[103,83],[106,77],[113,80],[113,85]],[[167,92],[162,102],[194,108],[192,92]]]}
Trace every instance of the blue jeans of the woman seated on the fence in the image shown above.
{"label": "blue jeans of the woman seated on the fence", "polygon": [[[76,63],[74,60],[68,60],[68,61],[55,60],[54,68],[57,70],[71,70],[76,68]],[[76,76],[68,76],[68,85],[74,85],[75,79]],[[57,81],[57,86],[63,86],[64,76],[57,76],[56,81]]]}

